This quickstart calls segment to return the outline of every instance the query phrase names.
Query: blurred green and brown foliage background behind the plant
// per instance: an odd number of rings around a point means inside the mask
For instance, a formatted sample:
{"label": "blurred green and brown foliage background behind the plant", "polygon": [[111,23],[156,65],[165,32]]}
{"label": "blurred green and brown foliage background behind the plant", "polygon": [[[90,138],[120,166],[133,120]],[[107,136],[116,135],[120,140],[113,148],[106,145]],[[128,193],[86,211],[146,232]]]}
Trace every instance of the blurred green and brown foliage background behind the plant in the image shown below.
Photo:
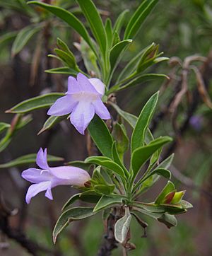
{"label": "blurred green and brown foliage background behind the plant", "polygon": [[[133,13],[139,3],[140,1],[136,0],[95,1],[104,21],[107,16],[115,21],[119,13],[125,9]],[[67,8],[82,18],[75,1],[54,0],[51,4]],[[125,23],[128,21],[129,13],[126,14]],[[69,45],[76,54],[79,66],[82,70],[85,69],[81,55],[73,46],[73,42],[80,40],[78,35],[41,8],[28,6],[25,0],[0,0],[0,30],[1,122],[11,122],[11,115],[4,114],[4,111],[21,100],[48,91],[64,91],[66,75],[44,72],[45,69],[59,66],[57,59],[47,57],[47,54],[53,53],[57,37]],[[28,37],[24,36],[25,33]],[[178,57],[177,62],[183,62],[186,57],[194,54],[207,57],[211,50],[211,39],[210,0],[161,0],[129,47],[128,54],[118,69],[122,71],[139,50],[152,42],[160,45],[160,51],[165,52],[165,56]],[[194,62],[194,65],[201,69],[202,63]],[[195,74],[189,72],[187,84],[189,93],[180,101],[177,117],[168,113],[161,119],[161,112],[167,107],[173,93],[176,93],[175,83],[181,78],[182,66],[179,65],[174,70],[168,62],[163,62],[153,69],[155,73],[171,74],[174,78],[167,85],[160,81],[141,83],[134,90],[119,93],[117,102],[124,110],[138,114],[148,97],[162,86],[158,112],[155,114],[158,117],[157,129],[154,132],[177,138],[172,178],[177,182],[177,190],[187,190],[187,199],[192,202],[194,209],[188,214],[179,216],[177,228],[171,230],[167,230],[160,223],[153,223],[151,219],[145,219],[149,223],[147,238],[141,238],[143,231],[133,223],[132,242],[137,245],[137,249],[131,251],[129,255],[208,256],[212,252],[211,110],[201,98],[193,97],[192,102],[189,101],[189,95],[195,96],[197,87]],[[212,94],[211,83],[209,77],[207,84],[209,95]],[[198,102],[192,116],[187,120],[189,104],[195,103],[195,100]],[[62,156],[66,161],[86,158],[86,141],[73,127],[70,127],[68,122],[61,122],[51,131],[35,136],[42,128],[46,117],[46,112],[43,110],[33,113],[33,120],[16,135],[6,150],[0,153],[1,163],[26,153],[35,153],[40,146],[48,146],[51,154]],[[188,121],[186,129],[181,134],[176,134],[175,126],[180,127],[184,120]],[[21,180],[21,170],[23,168],[4,168],[0,172],[1,194],[12,209],[19,209],[19,214],[11,219],[11,226],[18,226],[30,239],[49,248],[50,252],[44,254],[40,252],[39,255],[96,255],[104,233],[101,216],[98,218],[95,216],[89,221],[76,223],[67,228],[56,247],[53,247],[52,227],[61,206],[73,191],[67,187],[59,187],[54,190],[54,202],[47,201],[41,194],[27,207],[24,197],[28,184]],[[155,186],[155,194],[160,191],[160,187],[162,187],[160,184]],[[153,199],[155,194],[147,193],[146,197]],[[28,252],[20,248],[15,241],[7,240],[0,233],[0,255],[14,255],[14,253],[17,256],[28,255]],[[114,250],[112,255],[120,254],[119,248]]]}

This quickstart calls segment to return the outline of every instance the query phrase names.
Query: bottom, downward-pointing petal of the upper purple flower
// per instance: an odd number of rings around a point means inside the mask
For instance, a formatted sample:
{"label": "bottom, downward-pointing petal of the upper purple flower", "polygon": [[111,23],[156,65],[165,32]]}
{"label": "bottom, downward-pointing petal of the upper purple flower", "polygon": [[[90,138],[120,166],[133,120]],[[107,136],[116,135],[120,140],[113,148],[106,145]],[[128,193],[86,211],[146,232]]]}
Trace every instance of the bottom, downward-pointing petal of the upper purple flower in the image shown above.
{"label": "bottom, downward-pointing petal of the upper purple flower", "polygon": [[92,103],[81,101],[73,108],[70,119],[71,124],[73,124],[79,133],[84,134],[94,114],[95,108]]}

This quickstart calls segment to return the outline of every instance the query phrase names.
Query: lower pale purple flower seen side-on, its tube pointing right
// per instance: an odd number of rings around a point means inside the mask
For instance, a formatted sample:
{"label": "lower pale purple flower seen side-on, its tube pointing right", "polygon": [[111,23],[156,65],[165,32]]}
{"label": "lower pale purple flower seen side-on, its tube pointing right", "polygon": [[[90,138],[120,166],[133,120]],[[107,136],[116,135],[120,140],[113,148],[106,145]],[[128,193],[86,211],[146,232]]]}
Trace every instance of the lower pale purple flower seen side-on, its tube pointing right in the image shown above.
{"label": "lower pale purple flower seen side-on, its tube pointing right", "polygon": [[45,196],[52,197],[52,187],[58,185],[76,185],[83,187],[84,183],[90,180],[90,175],[81,168],[72,166],[49,167],[47,163],[47,149],[40,149],[37,152],[36,163],[41,169],[29,168],[24,170],[21,176],[32,183],[28,188],[25,201],[29,204],[32,197],[47,190]]}

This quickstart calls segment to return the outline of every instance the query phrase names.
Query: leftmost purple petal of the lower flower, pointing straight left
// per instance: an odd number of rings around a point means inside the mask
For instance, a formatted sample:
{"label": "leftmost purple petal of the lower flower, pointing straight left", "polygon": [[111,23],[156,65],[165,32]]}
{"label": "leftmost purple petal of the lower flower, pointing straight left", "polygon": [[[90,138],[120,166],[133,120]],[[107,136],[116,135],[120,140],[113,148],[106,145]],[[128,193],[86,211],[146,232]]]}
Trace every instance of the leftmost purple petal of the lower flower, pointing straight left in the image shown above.
{"label": "leftmost purple petal of the lower flower, pointing straight left", "polygon": [[29,168],[24,170],[23,173],[21,173],[21,176],[25,180],[33,183],[48,181],[52,178],[52,175],[49,173],[49,171],[42,172],[42,170],[36,168]]}

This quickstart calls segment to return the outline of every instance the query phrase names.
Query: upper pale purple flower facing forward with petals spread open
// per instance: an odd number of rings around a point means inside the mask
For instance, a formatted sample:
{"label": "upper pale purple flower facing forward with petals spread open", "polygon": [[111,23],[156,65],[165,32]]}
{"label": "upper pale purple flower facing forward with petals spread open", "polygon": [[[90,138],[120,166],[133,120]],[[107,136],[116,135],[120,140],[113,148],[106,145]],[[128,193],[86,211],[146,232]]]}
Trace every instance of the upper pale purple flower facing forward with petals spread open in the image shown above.
{"label": "upper pale purple flower facing forward with petals spread open", "polygon": [[79,73],[77,78],[69,76],[68,91],[50,107],[47,115],[68,115],[71,113],[71,124],[84,134],[88,124],[97,114],[100,118],[110,119],[110,112],[102,103],[105,85],[98,78],[88,79]]}

